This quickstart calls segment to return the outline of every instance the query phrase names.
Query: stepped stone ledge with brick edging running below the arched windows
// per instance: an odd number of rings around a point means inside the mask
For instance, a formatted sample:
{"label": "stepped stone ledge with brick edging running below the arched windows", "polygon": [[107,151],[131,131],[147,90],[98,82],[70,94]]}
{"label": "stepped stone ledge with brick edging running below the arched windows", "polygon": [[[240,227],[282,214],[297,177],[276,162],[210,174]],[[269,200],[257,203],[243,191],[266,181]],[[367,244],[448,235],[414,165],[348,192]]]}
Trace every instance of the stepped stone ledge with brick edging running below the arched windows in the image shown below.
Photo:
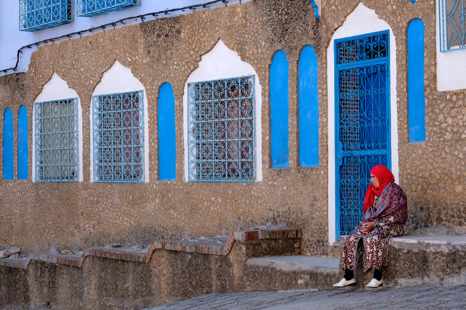
{"label": "stepped stone ledge with brick edging running below the arched windows", "polygon": [[297,255],[301,231],[283,226],[150,245],[52,247],[0,259],[0,309],[141,309],[213,292],[258,290],[245,261]]}

